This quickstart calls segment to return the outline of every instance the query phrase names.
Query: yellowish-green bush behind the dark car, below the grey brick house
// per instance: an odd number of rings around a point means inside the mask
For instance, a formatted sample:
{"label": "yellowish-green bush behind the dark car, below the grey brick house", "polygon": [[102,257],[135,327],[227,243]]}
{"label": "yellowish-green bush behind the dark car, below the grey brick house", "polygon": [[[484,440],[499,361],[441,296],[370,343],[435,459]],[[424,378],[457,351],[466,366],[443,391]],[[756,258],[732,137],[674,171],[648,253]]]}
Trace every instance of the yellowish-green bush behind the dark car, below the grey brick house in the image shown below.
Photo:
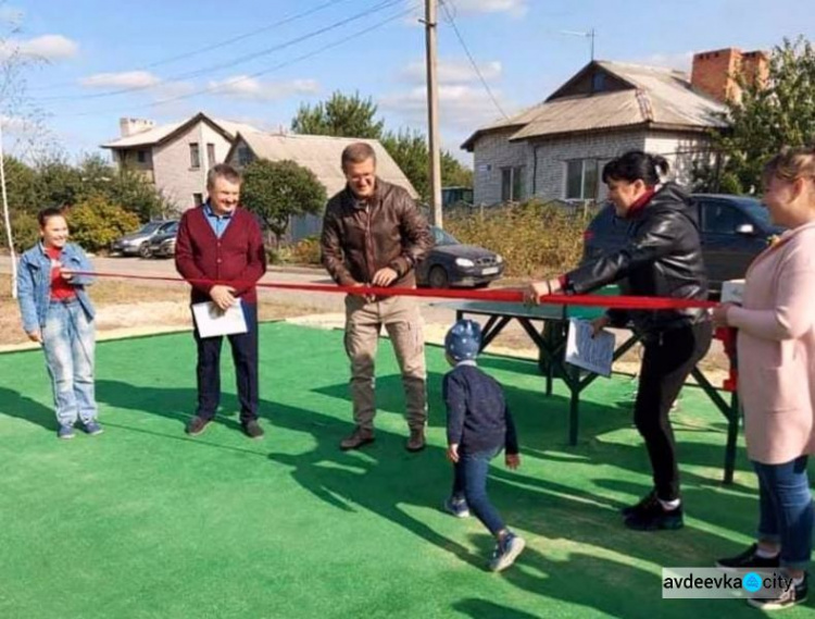
{"label": "yellowish-green bush behind the dark car, below the grey brick house", "polygon": [[589,214],[530,200],[484,210],[459,209],[447,216],[446,228],[462,243],[503,256],[507,275],[544,277],[579,263]]}

